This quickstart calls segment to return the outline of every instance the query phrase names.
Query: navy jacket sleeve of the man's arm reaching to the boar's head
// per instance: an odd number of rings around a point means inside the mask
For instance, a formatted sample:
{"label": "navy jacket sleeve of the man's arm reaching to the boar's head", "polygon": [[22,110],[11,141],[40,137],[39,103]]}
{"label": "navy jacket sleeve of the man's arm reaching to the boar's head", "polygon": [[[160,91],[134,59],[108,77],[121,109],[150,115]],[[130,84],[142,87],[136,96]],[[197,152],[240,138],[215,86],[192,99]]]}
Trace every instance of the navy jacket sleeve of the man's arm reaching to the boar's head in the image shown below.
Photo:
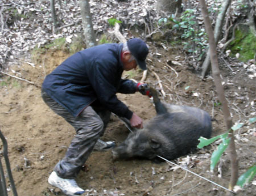
{"label": "navy jacket sleeve of the man's arm reaching to the boar's head", "polygon": [[117,63],[109,61],[103,65],[101,61],[96,61],[91,68],[88,78],[100,103],[118,116],[130,119],[133,112],[115,95],[119,77]]}

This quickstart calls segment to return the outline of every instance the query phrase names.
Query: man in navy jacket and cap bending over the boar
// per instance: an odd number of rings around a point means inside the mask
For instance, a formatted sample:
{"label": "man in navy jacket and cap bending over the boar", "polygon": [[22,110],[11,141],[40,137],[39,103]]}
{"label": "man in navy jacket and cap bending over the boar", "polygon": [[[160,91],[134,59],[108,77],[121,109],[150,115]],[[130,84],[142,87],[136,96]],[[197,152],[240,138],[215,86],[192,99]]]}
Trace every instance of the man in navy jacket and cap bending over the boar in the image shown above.
{"label": "man in navy jacket and cap bending over the boar", "polygon": [[85,192],[75,178],[97,141],[105,149],[114,146],[98,139],[111,112],[127,118],[132,127],[143,127],[142,119],[115,94],[139,91],[148,95],[146,84],[121,79],[123,70],[137,69],[137,65],[146,70],[147,54],[147,45],[137,38],[125,44],[102,44],[73,54],[47,75],[42,86],[44,102],[76,130],[64,158],[49,176],[49,184],[67,195]]}

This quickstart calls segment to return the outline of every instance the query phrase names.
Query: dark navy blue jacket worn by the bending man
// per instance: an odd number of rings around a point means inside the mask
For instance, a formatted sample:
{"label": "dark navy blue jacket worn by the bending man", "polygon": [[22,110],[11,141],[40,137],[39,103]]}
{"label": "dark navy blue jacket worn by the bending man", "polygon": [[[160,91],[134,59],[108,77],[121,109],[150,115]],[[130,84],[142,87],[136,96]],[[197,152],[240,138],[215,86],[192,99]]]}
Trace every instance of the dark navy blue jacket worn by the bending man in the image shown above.
{"label": "dark navy blue jacket worn by the bending man", "polygon": [[130,119],[133,112],[115,95],[136,91],[133,81],[121,79],[121,51],[122,44],[102,44],[73,54],[46,76],[42,88],[73,116],[97,100]]}

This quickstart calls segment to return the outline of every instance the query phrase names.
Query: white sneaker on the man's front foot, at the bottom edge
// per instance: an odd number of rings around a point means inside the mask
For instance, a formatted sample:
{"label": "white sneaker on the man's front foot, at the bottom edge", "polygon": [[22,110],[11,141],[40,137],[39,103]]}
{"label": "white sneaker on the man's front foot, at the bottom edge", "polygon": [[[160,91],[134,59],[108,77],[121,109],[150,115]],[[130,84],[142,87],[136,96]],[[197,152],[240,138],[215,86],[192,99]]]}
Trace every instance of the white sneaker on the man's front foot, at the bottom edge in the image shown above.
{"label": "white sneaker on the man's front foot, at the bottom edge", "polygon": [[48,182],[50,185],[59,188],[64,194],[69,196],[76,196],[85,193],[85,190],[82,190],[77,186],[75,180],[60,178],[54,171],[49,176]]}

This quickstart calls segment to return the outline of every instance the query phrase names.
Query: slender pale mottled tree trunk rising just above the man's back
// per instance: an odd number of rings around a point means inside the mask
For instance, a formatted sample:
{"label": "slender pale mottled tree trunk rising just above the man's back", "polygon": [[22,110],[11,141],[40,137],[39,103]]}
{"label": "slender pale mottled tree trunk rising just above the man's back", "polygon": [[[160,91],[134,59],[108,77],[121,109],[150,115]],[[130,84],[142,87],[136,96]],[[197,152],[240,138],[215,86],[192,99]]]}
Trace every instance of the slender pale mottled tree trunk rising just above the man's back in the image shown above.
{"label": "slender pale mottled tree trunk rising just above the man's back", "polygon": [[84,37],[86,47],[90,48],[96,46],[96,38],[93,31],[92,15],[90,14],[89,0],[80,0],[81,16],[82,16],[82,27],[84,29]]}

